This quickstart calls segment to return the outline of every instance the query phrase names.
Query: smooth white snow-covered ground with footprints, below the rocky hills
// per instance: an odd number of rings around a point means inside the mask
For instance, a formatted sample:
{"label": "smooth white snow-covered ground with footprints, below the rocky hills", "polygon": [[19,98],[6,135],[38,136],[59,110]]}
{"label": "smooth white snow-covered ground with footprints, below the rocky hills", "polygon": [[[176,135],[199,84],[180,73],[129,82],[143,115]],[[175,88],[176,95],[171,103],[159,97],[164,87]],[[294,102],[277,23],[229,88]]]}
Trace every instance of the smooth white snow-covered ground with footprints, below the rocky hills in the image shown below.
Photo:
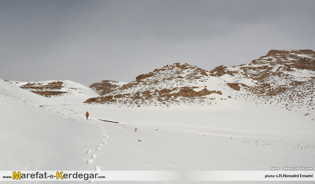
{"label": "smooth white snow-covered ground with footprints, below the rocky hills", "polygon": [[315,121],[278,107],[216,98],[211,106],[119,108],[45,98],[3,80],[0,91],[0,170],[269,171],[315,165]]}

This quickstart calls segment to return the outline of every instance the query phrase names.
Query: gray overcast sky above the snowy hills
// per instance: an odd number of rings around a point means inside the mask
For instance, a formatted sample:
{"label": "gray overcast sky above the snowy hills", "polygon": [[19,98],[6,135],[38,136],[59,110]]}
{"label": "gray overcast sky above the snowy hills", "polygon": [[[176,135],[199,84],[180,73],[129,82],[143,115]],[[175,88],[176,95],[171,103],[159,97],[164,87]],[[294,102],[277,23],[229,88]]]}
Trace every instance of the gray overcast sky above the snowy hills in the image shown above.
{"label": "gray overcast sky above the snowy hills", "polygon": [[315,1],[0,0],[0,78],[134,81],[167,64],[205,70],[271,49],[315,50]]}

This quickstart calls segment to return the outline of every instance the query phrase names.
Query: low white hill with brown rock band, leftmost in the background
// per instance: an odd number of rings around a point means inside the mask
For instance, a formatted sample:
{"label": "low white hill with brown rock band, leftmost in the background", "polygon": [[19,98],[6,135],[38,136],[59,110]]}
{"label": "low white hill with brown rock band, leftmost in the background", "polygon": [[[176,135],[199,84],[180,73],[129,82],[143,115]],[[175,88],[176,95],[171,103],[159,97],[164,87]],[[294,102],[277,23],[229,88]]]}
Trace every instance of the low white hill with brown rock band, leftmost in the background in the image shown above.
{"label": "low white hill with brown rock band, leftmost in the background", "polygon": [[21,82],[10,81],[20,88],[49,98],[65,100],[68,103],[84,102],[87,98],[99,96],[89,87],[68,80]]}

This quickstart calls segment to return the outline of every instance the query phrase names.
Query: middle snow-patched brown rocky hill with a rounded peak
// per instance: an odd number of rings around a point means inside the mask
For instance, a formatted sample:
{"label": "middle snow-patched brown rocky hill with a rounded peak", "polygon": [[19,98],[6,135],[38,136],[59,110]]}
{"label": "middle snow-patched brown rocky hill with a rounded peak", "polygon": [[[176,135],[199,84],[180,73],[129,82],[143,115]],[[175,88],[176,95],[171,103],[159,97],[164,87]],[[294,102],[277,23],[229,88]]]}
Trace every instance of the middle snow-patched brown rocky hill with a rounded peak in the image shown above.
{"label": "middle snow-patched brown rocky hill with a rounded peak", "polygon": [[[250,79],[243,79],[242,83],[243,86],[256,85]],[[232,89],[223,79],[211,76],[206,70],[189,64],[175,63],[139,75],[136,81],[103,96],[90,98],[86,103],[169,107],[180,104],[210,105],[216,98],[244,101],[255,99],[256,95],[243,86],[239,86],[238,90]]]}

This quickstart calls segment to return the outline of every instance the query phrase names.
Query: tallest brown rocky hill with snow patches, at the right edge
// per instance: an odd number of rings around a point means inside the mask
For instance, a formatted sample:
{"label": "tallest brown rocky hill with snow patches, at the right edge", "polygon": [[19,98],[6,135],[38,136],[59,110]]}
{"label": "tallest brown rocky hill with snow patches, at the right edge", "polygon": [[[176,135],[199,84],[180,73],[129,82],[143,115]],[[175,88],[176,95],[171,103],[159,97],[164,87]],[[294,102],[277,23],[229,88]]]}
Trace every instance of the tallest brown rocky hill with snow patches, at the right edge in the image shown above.
{"label": "tallest brown rocky hill with snow patches, at the right edge", "polygon": [[210,71],[231,83],[250,80],[247,88],[258,95],[275,95],[315,78],[315,52],[312,50],[271,50],[266,56],[239,66],[218,66]]}

